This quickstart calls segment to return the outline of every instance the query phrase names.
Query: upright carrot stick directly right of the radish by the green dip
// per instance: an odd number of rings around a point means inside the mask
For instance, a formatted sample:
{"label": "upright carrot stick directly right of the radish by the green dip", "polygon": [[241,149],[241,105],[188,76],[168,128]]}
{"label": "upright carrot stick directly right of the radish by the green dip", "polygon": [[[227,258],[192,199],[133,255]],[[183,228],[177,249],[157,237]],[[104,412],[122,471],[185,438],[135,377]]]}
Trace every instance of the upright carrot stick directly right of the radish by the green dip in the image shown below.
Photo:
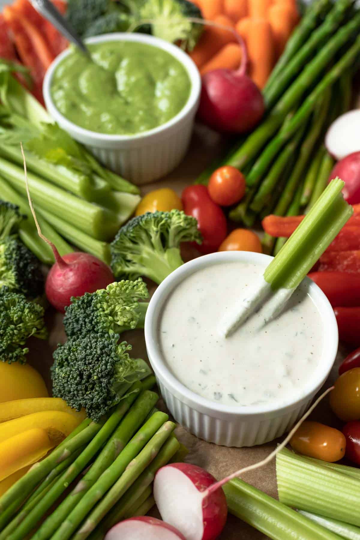
{"label": "upright carrot stick directly right of the radish by the green dip", "polygon": [[263,88],[275,63],[274,38],[266,19],[251,19],[246,45],[250,62],[250,77]]}

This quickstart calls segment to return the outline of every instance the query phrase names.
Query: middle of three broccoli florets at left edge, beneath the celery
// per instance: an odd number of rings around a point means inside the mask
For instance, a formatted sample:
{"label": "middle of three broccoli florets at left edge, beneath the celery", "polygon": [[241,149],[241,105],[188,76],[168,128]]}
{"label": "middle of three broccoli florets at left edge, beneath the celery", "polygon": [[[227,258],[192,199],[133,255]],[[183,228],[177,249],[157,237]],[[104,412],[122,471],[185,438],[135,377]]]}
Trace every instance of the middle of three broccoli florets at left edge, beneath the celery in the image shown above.
{"label": "middle of three broccoli florets at left edge, beneath the celery", "polygon": [[36,298],[43,293],[44,276],[40,261],[16,237],[6,237],[0,242],[0,291],[9,291]]}

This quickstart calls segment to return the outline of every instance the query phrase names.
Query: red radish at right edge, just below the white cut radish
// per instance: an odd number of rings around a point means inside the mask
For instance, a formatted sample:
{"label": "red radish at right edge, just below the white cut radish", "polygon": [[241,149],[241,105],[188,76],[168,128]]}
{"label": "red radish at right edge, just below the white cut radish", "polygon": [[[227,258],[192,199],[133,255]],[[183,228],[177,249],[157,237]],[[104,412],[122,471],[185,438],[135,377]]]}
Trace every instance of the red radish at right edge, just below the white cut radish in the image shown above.
{"label": "red radish at right edge, just below the white cut radish", "polygon": [[353,152],[338,161],[331,171],[329,182],[337,176],[345,182],[344,199],[349,204],[360,203],[360,152]]}

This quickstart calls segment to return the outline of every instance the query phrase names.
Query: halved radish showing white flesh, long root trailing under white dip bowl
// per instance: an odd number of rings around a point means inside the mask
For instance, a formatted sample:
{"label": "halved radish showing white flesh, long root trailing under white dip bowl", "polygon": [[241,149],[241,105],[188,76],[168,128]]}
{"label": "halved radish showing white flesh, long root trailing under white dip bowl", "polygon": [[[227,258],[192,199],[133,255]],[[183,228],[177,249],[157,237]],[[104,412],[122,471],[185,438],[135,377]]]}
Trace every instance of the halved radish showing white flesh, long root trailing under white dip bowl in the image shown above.
{"label": "halved radish showing white flesh, long root trailing under white dip bowl", "polygon": [[219,482],[206,470],[189,463],[171,463],[159,469],[154,480],[154,499],[162,519],[182,532],[187,540],[215,540],[220,535],[227,516],[226,497],[221,486],[232,478],[271,461],[333,388],[328,388],[318,397],[283,442],[264,460],[248,465]]}

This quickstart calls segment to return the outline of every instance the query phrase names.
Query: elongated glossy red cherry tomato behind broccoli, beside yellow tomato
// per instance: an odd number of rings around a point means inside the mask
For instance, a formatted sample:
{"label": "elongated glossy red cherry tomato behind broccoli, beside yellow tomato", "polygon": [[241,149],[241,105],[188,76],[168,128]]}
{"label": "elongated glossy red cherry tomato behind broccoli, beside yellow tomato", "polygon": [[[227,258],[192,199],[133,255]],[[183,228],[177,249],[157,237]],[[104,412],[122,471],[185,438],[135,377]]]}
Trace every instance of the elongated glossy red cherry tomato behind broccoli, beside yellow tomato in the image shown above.
{"label": "elongated glossy red cherry tomato behind broccoli, beside yellow tomato", "polygon": [[227,233],[226,217],[220,206],[210,199],[206,186],[195,185],[186,187],[182,192],[184,212],[198,220],[202,234],[202,244],[196,248],[201,253],[217,251]]}

